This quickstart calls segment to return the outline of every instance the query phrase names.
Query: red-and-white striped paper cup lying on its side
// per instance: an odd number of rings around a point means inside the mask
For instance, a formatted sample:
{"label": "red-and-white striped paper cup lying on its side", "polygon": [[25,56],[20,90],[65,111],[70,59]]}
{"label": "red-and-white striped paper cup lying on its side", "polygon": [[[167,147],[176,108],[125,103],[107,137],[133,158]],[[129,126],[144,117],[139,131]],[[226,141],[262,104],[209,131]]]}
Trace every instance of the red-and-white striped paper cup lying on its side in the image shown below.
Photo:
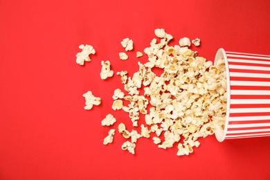
{"label": "red-and-white striped paper cup lying on its side", "polygon": [[227,109],[217,141],[270,136],[270,55],[235,53],[219,48],[215,62],[226,64]]}

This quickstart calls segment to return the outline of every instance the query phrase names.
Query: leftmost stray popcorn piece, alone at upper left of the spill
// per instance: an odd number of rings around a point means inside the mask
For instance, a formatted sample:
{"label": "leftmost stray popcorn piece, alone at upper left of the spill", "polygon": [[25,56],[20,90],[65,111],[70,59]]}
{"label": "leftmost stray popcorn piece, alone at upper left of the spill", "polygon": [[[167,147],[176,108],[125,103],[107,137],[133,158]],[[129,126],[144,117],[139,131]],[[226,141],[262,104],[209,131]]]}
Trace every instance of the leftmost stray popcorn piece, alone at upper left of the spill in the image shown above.
{"label": "leftmost stray popcorn piece, alone at upper left of the spill", "polygon": [[82,49],[82,52],[76,54],[76,57],[77,57],[76,58],[76,63],[80,64],[80,65],[83,65],[84,61],[90,62],[91,59],[90,59],[89,55],[96,53],[93,46],[87,45],[87,44],[84,46],[83,44],[81,44],[79,46],[79,48]]}

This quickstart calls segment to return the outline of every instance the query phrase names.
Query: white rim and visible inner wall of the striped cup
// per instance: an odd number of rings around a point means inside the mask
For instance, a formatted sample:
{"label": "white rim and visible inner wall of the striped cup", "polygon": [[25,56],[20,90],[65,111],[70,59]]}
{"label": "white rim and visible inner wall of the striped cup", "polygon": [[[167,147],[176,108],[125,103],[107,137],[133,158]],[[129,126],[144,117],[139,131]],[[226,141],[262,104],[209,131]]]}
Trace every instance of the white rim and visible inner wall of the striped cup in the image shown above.
{"label": "white rim and visible inner wall of the striped cup", "polygon": [[224,60],[225,67],[226,67],[226,81],[227,81],[226,120],[225,120],[224,129],[222,129],[222,127],[217,125],[215,122],[213,123],[215,125],[215,137],[217,138],[217,141],[222,142],[225,139],[227,129],[228,129],[228,118],[230,116],[230,100],[231,100],[231,83],[230,83],[230,75],[229,75],[229,69],[228,69],[228,59],[227,59],[226,51],[224,50],[224,48],[219,48],[219,50],[217,51],[215,55],[214,64],[217,62],[217,60],[220,60],[220,59]]}

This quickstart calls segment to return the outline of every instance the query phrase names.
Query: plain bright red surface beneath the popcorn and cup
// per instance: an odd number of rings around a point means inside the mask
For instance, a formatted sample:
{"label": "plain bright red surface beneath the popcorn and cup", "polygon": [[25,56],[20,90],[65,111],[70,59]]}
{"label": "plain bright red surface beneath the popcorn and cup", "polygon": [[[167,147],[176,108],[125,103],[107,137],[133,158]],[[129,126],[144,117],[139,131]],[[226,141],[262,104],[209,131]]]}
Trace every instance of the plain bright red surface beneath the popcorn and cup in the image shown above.
{"label": "plain bright red surface beneath the popcorn and cup", "polygon": [[[102,145],[109,127],[100,121],[111,109],[120,78],[101,80],[101,60],[111,69],[138,71],[141,59],[123,62],[125,37],[143,51],[155,28],[201,39],[193,48],[213,60],[218,48],[270,55],[269,1],[0,1],[0,179],[270,179],[270,137],[217,142],[201,139],[189,156],[177,147],[161,150],[141,138],[136,155],[125,141]],[[75,63],[80,44],[97,51],[84,66]],[[84,110],[91,90],[102,105]]]}

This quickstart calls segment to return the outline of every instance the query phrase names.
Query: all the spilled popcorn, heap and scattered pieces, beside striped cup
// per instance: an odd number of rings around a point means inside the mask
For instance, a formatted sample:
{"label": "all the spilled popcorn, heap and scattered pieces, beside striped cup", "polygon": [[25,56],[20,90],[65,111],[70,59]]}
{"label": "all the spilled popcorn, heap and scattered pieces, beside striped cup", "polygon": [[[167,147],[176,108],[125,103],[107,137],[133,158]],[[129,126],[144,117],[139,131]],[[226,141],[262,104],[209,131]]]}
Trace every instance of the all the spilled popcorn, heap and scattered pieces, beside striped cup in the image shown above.
{"label": "all the spilled popcorn, heap and scattered pieces, beside striped cup", "polygon": [[[124,84],[125,92],[115,89],[112,109],[129,113],[134,127],[127,129],[124,123],[118,123],[118,133],[127,139],[122,149],[135,154],[138,138],[152,138],[159,148],[177,145],[178,156],[188,155],[194,147],[199,147],[199,138],[214,134],[217,125],[224,129],[227,100],[225,64],[218,60],[213,65],[213,62],[197,56],[197,51],[188,48],[191,44],[199,46],[199,38],[190,42],[189,38],[183,37],[179,45],[170,46],[172,35],[163,28],[154,30],[154,33],[158,39],[152,39],[150,47],[144,49],[149,61],[145,64],[138,62],[138,71],[132,77],[127,76],[127,71],[116,73]],[[126,52],[132,51],[133,43],[129,38],[121,42]],[[76,55],[76,62],[82,65],[84,60],[90,60],[87,55],[95,51],[89,45],[80,45],[80,48],[82,53]],[[136,53],[136,57],[141,56],[143,53]],[[127,53],[119,53],[119,57],[120,60],[128,59]],[[101,64],[102,80],[114,75],[109,61]],[[162,69],[163,73],[156,75],[152,71],[154,67]],[[141,91],[143,95],[140,95]],[[86,100],[84,109],[100,105],[101,99],[93,96],[91,91],[83,96]],[[124,106],[124,101],[129,104]],[[140,114],[145,117],[143,122],[139,120]],[[101,120],[101,125],[111,126],[116,122],[116,118],[108,114]],[[115,132],[116,129],[109,130],[104,145],[113,142]]]}

